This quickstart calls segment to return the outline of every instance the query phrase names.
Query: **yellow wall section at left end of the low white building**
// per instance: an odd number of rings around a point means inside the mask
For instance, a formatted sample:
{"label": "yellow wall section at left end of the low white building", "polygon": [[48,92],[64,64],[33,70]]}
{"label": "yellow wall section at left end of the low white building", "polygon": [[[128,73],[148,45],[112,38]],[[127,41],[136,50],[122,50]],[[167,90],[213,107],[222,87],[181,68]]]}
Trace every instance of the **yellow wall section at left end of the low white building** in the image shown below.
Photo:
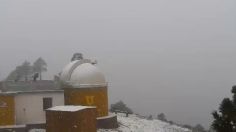
{"label": "yellow wall section at left end of the low white building", "polygon": [[15,124],[14,96],[0,95],[0,126]]}

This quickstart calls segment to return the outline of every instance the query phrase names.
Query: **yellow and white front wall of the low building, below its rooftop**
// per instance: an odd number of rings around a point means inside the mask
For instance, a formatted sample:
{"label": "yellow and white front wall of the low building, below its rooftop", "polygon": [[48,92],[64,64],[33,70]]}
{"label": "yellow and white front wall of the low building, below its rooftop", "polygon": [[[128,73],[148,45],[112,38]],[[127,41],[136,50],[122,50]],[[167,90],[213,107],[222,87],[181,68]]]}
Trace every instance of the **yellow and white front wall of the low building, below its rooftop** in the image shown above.
{"label": "yellow and white front wall of the low building, below its rooftop", "polygon": [[0,93],[0,125],[45,123],[45,110],[63,104],[62,90]]}

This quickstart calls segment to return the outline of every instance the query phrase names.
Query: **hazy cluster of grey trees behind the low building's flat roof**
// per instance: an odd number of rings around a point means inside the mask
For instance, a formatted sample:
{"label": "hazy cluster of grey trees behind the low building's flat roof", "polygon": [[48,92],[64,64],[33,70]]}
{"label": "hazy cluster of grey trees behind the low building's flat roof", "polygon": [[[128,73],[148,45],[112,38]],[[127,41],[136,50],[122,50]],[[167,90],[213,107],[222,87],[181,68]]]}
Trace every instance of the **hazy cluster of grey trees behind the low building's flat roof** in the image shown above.
{"label": "hazy cluster of grey trees behind the low building's flat roof", "polygon": [[47,63],[43,58],[39,57],[33,65],[28,61],[24,61],[21,65],[16,66],[16,68],[7,76],[6,81],[28,81],[30,78],[34,81],[36,81],[37,78],[42,80],[42,72],[46,71]]}

